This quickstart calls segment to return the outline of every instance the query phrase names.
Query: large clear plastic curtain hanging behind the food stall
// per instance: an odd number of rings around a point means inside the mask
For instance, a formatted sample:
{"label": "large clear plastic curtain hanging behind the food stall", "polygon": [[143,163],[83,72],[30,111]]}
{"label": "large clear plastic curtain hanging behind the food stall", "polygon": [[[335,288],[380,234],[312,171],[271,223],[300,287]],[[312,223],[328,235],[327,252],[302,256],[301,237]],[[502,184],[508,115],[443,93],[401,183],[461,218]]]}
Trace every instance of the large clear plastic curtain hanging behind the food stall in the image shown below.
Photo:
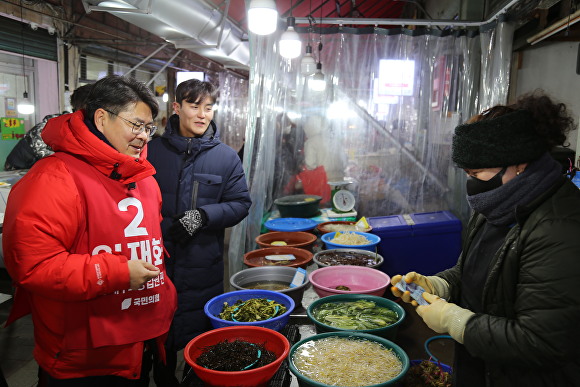
{"label": "large clear plastic curtain hanging behind the food stall", "polygon": [[482,106],[505,102],[513,28],[333,30],[302,35],[322,64],[324,91],[312,90],[299,58],[280,57],[278,36],[251,36],[244,168],[253,205],[232,231],[230,273],[255,248],[274,199],[316,193],[316,179],[350,181],[359,217],[469,215],[452,133]]}

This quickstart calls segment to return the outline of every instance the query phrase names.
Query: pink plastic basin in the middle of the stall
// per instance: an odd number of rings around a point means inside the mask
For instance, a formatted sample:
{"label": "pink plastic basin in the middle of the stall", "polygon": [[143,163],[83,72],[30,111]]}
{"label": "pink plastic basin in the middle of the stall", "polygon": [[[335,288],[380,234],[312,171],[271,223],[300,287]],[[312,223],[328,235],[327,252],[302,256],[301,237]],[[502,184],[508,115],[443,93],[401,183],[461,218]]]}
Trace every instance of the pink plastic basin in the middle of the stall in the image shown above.
{"label": "pink plastic basin in the middle of the stall", "polygon": [[[314,270],[308,276],[314,291],[320,297],[333,294],[372,294],[382,296],[391,277],[380,270],[364,266],[329,266]],[[337,286],[350,290],[338,290]]]}

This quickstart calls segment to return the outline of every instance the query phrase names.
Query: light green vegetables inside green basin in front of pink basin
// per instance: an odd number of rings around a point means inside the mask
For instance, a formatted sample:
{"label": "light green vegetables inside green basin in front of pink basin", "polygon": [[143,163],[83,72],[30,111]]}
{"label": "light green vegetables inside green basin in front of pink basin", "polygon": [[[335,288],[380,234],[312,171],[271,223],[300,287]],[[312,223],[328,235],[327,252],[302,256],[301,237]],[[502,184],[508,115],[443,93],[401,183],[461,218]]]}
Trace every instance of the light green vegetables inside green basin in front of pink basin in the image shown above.
{"label": "light green vegetables inside green basin in front of pink basin", "polygon": [[399,319],[395,311],[366,300],[327,302],[314,308],[312,315],[323,324],[349,330],[384,328]]}

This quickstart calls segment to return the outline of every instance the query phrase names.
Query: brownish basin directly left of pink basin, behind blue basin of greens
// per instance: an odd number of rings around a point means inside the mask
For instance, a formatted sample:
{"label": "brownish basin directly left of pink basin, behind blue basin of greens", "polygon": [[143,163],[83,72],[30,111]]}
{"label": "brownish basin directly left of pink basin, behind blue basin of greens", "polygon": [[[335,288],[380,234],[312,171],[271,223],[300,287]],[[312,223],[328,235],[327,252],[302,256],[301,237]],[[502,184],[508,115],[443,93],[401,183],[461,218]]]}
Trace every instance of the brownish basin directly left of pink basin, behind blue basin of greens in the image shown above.
{"label": "brownish basin directly left of pink basin, behind blue basin of greens", "polygon": [[[293,267],[281,266],[281,267],[270,267],[270,266],[263,266],[263,267],[252,267],[249,269],[244,269],[232,275],[230,277],[230,285],[232,285],[235,289],[252,289],[258,287],[249,286],[257,285],[259,283],[263,285],[268,285],[272,283],[279,283],[284,285],[290,285],[294,275],[296,274],[296,270]],[[267,287],[262,287],[261,289],[266,290],[274,290],[276,292],[284,293],[287,296],[292,297],[294,300],[295,305],[300,305],[302,303],[302,298],[304,297],[304,291],[308,289],[310,286],[310,281],[308,277],[304,277],[304,280],[301,285],[296,287],[287,289],[269,289]]]}

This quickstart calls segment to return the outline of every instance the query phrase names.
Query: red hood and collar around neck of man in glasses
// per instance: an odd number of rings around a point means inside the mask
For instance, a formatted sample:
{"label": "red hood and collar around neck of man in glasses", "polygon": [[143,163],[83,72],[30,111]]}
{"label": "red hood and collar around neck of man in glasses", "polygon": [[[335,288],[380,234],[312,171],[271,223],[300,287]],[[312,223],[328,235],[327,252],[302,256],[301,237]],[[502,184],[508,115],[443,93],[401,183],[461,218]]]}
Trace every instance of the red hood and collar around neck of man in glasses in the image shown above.
{"label": "red hood and collar around neck of man in glasses", "polygon": [[120,153],[93,134],[84,122],[84,111],[63,114],[48,120],[42,139],[55,152],[65,152],[86,160],[106,176],[130,184],[155,174],[147,161],[147,146],[135,159]]}

